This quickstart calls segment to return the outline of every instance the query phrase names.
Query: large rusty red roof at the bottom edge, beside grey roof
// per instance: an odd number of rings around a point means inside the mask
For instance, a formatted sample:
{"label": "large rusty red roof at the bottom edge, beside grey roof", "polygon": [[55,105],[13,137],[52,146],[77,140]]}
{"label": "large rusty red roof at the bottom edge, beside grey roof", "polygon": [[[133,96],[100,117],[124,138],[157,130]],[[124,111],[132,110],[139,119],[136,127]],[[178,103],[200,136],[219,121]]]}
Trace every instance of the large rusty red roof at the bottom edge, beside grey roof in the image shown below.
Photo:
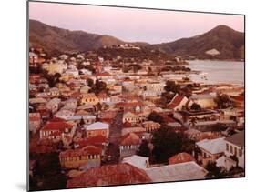
{"label": "large rusty red roof at the bottom edge, beside grey roof", "polygon": [[93,167],[67,181],[67,188],[150,183],[146,172],[128,164]]}

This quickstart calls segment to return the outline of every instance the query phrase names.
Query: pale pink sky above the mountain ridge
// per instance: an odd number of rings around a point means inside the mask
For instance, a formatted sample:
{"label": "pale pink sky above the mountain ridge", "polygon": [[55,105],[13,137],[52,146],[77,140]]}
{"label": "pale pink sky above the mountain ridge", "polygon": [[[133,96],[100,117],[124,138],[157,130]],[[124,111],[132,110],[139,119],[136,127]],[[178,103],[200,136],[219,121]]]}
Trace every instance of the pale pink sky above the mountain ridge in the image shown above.
{"label": "pale pink sky above the mountain ridge", "polygon": [[244,32],[242,15],[29,2],[29,19],[69,30],[112,35],[128,42],[171,42],[203,34],[217,25]]}

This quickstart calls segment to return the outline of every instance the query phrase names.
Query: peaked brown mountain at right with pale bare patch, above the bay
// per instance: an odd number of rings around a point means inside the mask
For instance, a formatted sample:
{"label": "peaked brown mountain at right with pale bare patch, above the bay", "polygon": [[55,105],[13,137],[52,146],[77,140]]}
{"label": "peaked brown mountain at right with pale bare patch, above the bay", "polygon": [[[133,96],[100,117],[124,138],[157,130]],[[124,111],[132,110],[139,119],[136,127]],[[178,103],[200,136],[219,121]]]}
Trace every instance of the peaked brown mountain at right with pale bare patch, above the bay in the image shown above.
{"label": "peaked brown mountain at right with pale bare patch, above the bay", "polygon": [[[200,59],[244,59],[244,33],[235,31],[227,25],[218,25],[201,35],[149,45],[149,47],[176,56],[194,56]],[[206,52],[211,49],[217,49],[220,55],[207,55]]]}

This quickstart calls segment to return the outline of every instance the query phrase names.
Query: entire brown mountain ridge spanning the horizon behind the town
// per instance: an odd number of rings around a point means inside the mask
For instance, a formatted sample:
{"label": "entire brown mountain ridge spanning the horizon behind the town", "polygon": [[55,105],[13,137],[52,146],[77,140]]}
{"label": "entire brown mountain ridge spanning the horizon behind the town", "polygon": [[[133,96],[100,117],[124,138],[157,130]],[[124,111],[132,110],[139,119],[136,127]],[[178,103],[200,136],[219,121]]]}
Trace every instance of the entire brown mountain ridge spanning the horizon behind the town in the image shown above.
{"label": "entire brown mountain ridge spanning the horizon behind the town", "polygon": [[220,55],[214,58],[244,58],[244,33],[235,31],[227,25],[218,25],[201,35],[150,45],[147,42],[125,42],[111,35],[91,34],[82,30],[71,31],[46,25],[37,20],[29,20],[29,45],[43,47],[50,53],[79,53],[125,43],[164,51],[173,56],[213,58],[206,52],[217,49]]}

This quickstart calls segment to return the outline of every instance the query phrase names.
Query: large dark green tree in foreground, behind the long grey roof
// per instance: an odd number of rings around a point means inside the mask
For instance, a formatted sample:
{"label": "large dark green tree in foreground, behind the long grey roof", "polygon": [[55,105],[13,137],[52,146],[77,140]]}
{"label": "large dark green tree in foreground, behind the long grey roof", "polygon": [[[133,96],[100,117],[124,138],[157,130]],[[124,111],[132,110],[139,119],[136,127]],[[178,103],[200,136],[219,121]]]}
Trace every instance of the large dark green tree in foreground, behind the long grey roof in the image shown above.
{"label": "large dark green tree in foreground, behind the long grey roof", "polygon": [[152,144],[153,163],[167,163],[168,158],[183,152],[188,138],[181,133],[176,133],[170,128],[161,127],[154,131]]}

